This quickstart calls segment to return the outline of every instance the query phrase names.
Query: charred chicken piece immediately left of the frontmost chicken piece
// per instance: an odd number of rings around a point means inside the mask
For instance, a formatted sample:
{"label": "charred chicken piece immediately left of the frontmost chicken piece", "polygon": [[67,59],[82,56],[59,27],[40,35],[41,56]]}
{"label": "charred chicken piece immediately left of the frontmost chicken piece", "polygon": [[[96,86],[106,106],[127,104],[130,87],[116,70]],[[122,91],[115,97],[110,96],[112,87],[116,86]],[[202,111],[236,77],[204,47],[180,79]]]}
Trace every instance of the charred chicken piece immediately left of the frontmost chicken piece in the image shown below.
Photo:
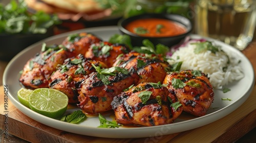
{"label": "charred chicken piece immediately left of the frontmost chicken piece", "polygon": [[119,72],[115,76],[109,76],[109,84],[104,84],[97,74],[90,74],[80,86],[78,107],[88,114],[112,110],[113,98],[124,89],[137,83],[140,78],[136,70],[132,70],[128,74]]}

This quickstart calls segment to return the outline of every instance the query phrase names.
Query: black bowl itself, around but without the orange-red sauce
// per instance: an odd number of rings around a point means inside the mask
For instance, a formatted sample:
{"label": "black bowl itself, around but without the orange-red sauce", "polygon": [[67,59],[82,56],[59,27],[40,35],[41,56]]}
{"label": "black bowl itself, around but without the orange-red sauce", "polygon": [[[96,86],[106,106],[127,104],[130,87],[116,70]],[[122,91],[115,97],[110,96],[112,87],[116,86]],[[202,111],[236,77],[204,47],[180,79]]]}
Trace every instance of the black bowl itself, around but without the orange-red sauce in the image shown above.
{"label": "black bowl itself, around but without the orange-red sauce", "polygon": [[[143,18],[163,18],[163,19],[174,21],[174,22],[178,22],[186,28],[186,32],[184,34],[180,34],[176,36],[145,37],[145,36],[137,35],[125,29],[125,26],[129,24],[131,21],[134,21],[137,19],[143,19]],[[181,40],[183,40],[192,31],[191,22],[186,17],[177,15],[177,14],[156,14],[156,13],[146,13],[146,14],[132,16],[129,18],[122,18],[118,21],[118,28],[122,34],[127,34],[131,37],[133,46],[142,46],[142,41],[144,39],[149,39],[154,45],[161,43],[170,47],[181,42]]]}

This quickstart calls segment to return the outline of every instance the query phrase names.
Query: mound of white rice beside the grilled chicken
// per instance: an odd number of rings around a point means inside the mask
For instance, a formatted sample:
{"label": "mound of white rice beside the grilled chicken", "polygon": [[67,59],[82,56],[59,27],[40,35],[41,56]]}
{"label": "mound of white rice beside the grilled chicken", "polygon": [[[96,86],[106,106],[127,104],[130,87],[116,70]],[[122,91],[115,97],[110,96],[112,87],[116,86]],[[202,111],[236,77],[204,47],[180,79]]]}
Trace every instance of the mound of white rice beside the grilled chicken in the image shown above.
{"label": "mound of white rice beside the grilled chicken", "polygon": [[[178,51],[174,52],[169,64],[182,61],[181,70],[194,69],[201,70],[207,74],[210,83],[216,89],[222,89],[223,86],[233,81],[240,80],[244,77],[238,58],[234,58],[231,53],[224,53],[223,51],[211,53],[206,51],[200,54],[195,54],[195,44],[187,44],[180,47]],[[230,63],[228,64],[228,57]],[[226,71],[223,71],[223,68]]]}

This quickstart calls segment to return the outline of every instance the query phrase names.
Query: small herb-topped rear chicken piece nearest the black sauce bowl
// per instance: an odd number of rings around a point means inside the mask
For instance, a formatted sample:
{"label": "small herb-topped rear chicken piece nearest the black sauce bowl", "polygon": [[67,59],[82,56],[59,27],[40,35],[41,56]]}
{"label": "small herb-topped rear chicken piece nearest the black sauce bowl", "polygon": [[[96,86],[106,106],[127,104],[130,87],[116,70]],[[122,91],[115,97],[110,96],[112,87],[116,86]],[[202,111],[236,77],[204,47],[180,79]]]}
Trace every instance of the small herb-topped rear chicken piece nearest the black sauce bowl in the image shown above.
{"label": "small herb-topped rear chicken piece nearest the black sauce bowl", "polygon": [[86,53],[86,58],[104,62],[108,67],[112,67],[116,58],[120,54],[126,54],[129,49],[121,44],[111,44],[109,42],[94,43]]}

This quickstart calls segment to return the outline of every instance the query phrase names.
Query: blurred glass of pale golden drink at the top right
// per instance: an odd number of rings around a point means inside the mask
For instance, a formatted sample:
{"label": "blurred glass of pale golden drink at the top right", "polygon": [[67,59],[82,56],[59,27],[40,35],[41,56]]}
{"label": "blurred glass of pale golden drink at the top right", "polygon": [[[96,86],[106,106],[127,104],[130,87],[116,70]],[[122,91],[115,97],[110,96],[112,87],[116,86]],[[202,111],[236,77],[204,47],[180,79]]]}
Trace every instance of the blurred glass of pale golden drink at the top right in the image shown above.
{"label": "blurred glass of pale golden drink at the top right", "polygon": [[195,32],[244,50],[256,25],[256,0],[197,0]]}

